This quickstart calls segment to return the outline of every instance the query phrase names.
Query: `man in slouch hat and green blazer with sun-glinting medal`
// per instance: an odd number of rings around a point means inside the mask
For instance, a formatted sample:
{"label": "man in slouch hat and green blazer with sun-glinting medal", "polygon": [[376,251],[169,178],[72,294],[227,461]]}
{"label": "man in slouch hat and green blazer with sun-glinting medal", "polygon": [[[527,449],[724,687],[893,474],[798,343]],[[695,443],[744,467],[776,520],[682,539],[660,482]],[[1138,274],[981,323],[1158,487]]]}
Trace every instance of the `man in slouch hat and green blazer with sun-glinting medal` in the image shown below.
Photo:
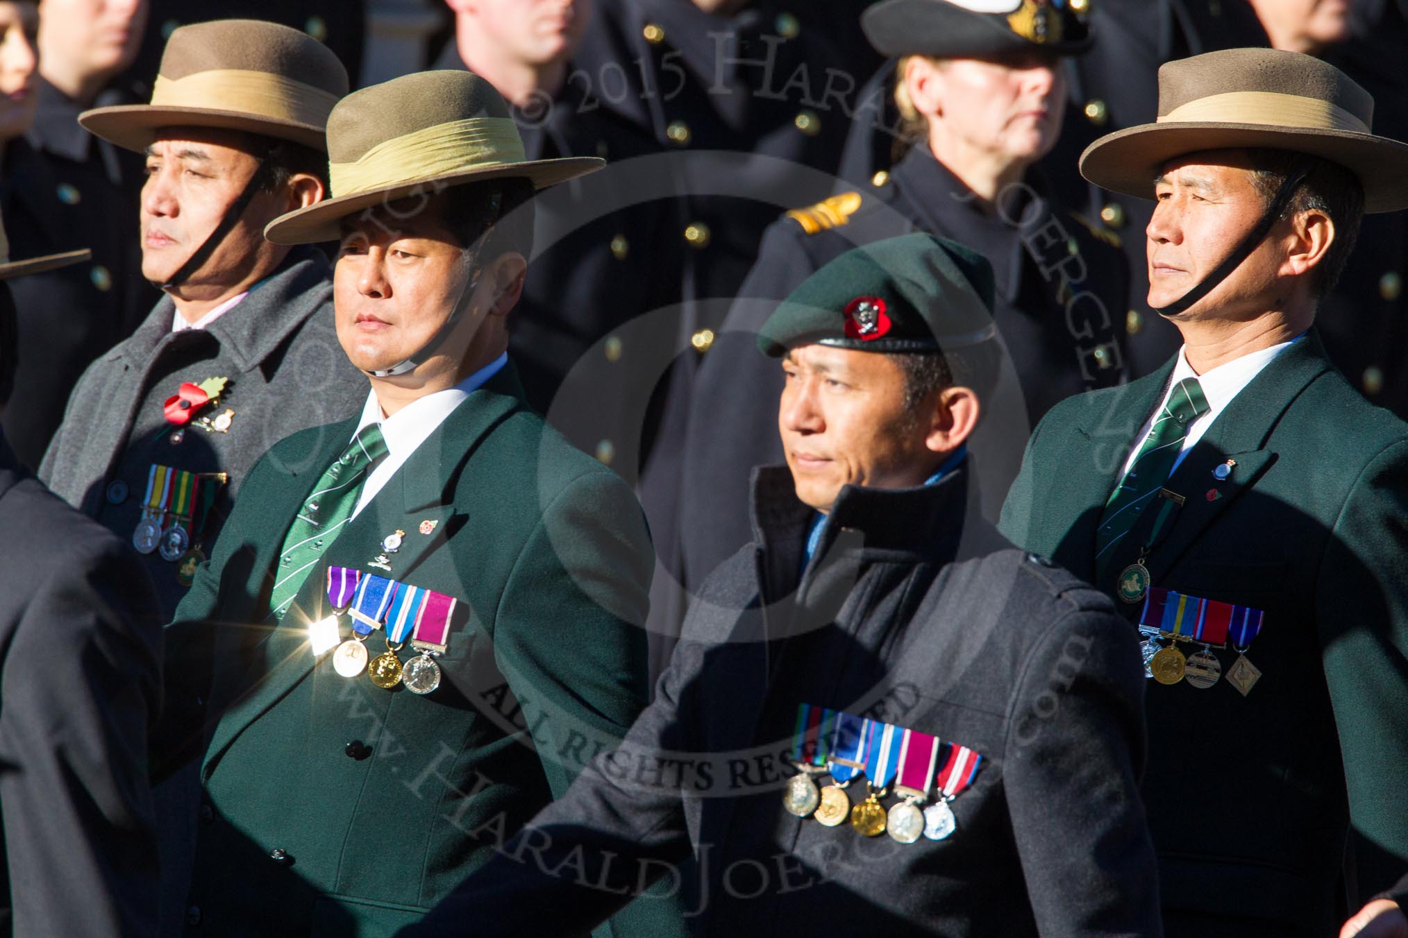
{"label": "man in slouch hat and green blazer with sun-glinting medal", "polygon": [[[534,194],[601,160],[527,159],[462,70],[348,96],[328,152],[332,197],[266,235],[341,238],[337,335],[370,392],[255,465],[169,630],[168,707],[191,719],[158,750],[204,757],[200,934],[415,921],[648,696],[641,508],[507,353]],[[614,925],[669,934],[672,907]]]}

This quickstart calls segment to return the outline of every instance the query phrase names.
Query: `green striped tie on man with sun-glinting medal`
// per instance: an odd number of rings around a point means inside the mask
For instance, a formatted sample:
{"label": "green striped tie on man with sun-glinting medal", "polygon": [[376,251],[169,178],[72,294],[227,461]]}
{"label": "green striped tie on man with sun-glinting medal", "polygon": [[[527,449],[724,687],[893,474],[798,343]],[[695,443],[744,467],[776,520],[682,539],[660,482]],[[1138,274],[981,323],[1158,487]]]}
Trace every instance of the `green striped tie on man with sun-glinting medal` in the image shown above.
{"label": "green striped tie on man with sun-glinting medal", "polygon": [[303,499],[279,551],[279,572],[273,592],[269,593],[270,619],[283,619],[303,581],[322,560],[324,551],[337,540],[342,526],[352,519],[362,484],[366,482],[372,465],[384,456],[386,440],[382,437],[382,428],[376,423],[362,428],[342,456],[335,458],[318,478],[313,494]]}

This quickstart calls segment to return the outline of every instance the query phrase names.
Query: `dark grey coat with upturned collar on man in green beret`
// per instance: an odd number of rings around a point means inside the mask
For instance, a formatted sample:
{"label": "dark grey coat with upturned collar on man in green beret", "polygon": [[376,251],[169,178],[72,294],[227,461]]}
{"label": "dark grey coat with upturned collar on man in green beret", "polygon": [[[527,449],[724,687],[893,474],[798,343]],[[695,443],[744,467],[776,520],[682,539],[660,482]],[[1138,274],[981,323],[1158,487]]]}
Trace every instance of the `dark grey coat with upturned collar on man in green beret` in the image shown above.
{"label": "dark grey coat with upturned collar on man in green beret", "polygon": [[[967,487],[842,489],[803,571],[815,515],[763,471],[759,540],[710,578],[621,750],[401,938],[572,934],[690,854],[698,934],[1162,934],[1133,636],[964,518]],[[957,831],[898,844],[784,813],[800,703],[981,754]]]}

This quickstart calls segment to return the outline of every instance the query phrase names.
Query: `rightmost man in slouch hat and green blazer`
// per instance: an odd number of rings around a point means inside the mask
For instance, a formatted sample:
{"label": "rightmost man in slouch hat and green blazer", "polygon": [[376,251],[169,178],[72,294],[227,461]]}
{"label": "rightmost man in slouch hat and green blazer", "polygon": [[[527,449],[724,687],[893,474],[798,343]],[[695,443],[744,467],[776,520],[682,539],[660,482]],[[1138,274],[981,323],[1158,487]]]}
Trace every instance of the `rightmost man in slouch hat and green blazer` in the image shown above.
{"label": "rightmost man in slouch hat and green blazer", "polygon": [[1311,56],[1211,52],[1081,158],[1156,200],[1149,304],[1184,345],[1042,420],[1002,530],[1143,634],[1171,935],[1333,934],[1408,861],[1408,425],[1315,330],[1362,214],[1408,207],[1371,111]]}

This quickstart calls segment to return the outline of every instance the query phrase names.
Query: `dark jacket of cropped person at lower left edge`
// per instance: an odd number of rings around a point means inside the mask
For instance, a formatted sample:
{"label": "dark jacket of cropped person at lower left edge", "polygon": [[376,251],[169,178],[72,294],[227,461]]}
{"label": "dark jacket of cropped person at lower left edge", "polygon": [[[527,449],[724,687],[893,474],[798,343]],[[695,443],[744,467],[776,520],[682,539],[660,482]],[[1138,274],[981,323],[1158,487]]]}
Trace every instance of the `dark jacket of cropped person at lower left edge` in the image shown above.
{"label": "dark jacket of cropped person at lower left edge", "polygon": [[131,548],[0,439],[0,934],[153,934],[161,640]]}

